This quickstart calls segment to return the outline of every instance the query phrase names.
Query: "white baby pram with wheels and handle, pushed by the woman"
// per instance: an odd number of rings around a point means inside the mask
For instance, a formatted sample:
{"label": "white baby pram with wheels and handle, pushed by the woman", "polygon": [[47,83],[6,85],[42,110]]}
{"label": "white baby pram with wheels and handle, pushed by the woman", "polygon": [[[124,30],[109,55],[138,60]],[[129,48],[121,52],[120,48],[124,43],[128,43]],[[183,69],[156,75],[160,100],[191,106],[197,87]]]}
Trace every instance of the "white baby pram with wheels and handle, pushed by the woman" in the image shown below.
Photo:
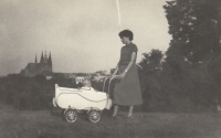
{"label": "white baby pram with wheels and handle, pushed by the woman", "polygon": [[[105,83],[109,78],[108,92],[105,93]],[[110,109],[113,102],[109,97],[109,86],[114,77],[104,79],[103,92],[97,92],[92,87],[67,88],[55,84],[54,107],[64,109],[63,117],[69,123],[74,123],[78,118],[78,113],[87,112],[87,118],[92,123],[98,123],[102,110]]]}

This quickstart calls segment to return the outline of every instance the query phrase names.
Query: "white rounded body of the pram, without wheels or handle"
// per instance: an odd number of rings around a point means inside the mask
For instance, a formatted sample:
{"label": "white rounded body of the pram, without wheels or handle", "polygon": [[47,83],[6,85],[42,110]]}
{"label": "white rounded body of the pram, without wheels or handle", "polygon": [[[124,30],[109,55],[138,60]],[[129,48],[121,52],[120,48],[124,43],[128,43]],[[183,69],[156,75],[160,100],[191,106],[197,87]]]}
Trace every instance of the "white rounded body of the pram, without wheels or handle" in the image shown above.
{"label": "white rounded body of the pram, without wheels or handle", "polygon": [[76,89],[59,87],[56,84],[53,104],[64,109],[74,108],[90,110],[96,108],[103,110],[112,107],[112,99],[106,93],[97,92],[92,87]]}

